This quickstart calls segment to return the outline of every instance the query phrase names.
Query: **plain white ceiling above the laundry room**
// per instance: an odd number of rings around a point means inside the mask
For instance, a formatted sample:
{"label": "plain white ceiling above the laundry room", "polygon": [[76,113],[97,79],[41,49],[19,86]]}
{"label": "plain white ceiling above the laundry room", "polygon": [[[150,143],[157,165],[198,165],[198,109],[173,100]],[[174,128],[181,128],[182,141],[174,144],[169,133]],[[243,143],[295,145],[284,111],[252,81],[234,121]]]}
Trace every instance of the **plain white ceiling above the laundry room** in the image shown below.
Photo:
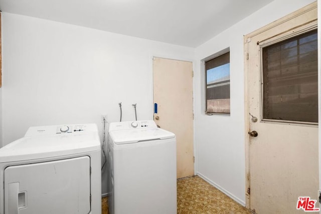
{"label": "plain white ceiling above the laundry room", "polygon": [[195,48],[272,1],[0,0],[0,10]]}

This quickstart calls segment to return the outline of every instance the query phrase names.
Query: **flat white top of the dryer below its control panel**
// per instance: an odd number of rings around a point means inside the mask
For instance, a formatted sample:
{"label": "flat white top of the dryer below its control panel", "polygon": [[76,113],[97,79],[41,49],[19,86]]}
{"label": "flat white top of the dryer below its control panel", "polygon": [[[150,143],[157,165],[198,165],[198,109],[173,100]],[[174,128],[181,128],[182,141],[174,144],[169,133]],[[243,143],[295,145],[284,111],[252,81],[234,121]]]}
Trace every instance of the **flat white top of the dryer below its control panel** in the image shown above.
{"label": "flat white top of the dryer below its control panel", "polygon": [[0,149],[0,162],[71,155],[100,150],[97,132],[26,136]]}

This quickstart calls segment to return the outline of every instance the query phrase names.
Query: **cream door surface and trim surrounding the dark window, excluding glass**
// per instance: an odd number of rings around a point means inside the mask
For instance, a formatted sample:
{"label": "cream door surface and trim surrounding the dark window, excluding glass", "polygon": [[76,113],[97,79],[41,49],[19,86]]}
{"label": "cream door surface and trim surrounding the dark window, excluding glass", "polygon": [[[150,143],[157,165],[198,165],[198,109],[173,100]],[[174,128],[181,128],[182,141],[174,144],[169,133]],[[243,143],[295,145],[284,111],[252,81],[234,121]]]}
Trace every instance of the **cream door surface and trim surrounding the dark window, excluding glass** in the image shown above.
{"label": "cream door surface and trim surrounding the dark window, excluding glass", "polygon": [[316,19],[314,3],[245,36],[247,127],[258,133],[248,139],[247,206],[256,213],[304,213],[296,209],[298,197],[317,199],[317,125],[264,121],[261,73],[263,47],[315,28]]}

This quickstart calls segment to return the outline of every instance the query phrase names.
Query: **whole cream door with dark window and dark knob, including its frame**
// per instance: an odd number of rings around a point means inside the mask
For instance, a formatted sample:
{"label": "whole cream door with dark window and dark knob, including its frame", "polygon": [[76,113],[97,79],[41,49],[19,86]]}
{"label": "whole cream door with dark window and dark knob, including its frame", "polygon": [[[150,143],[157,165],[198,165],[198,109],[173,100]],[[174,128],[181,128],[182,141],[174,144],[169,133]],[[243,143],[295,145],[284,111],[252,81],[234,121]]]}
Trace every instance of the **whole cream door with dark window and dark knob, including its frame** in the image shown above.
{"label": "whole cream door with dark window and dark knob, including its frame", "polygon": [[316,19],[313,3],[245,36],[246,194],[256,213],[304,213],[298,198],[317,200]]}

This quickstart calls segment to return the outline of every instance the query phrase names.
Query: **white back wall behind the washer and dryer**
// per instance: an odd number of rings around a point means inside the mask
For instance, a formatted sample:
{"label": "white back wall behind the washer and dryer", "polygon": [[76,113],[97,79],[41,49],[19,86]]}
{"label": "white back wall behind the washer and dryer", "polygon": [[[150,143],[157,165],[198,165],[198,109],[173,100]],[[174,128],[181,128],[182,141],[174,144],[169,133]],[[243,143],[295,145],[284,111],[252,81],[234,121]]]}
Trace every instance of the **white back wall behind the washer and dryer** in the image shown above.
{"label": "white back wall behind the washer and dryer", "polygon": [[[3,13],[3,142],[30,126],[152,119],[152,56],[194,49]],[[102,137],[101,137],[102,140]],[[106,191],[103,177],[103,193]]]}

